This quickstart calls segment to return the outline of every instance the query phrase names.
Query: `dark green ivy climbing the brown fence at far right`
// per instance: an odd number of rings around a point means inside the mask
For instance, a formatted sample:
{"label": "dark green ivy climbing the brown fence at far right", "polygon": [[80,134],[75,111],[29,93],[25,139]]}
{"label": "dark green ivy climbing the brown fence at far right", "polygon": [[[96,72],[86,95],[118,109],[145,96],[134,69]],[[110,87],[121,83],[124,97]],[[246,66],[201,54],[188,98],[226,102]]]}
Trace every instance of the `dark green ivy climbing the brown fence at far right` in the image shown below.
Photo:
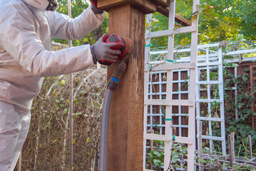
{"label": "dark green ivy climbing the brown fence at far right", "polygon": [[[248,157],[247,152],[247,136],[252,137],[252,149],[256,148],[256,131],[252,130],[252,113],[251,105],[255,100],[256,87],[252,93],[250,93],[250,71],[245,68],[244,73],[240,74],[235,78],[228,69],[230,66],[228,63],[224,63],[225,70],[223,76],[225,78],[224,87],[225,91],[225,102],[231,103],[230,106],[225,107],[225,123],[227,125],[226,134],[230,135],[231,132],[235,132],[235,151],[237,155],[242,157]],[[235,98],[232,98],[232,87],[237,84],[237,103]],[[231,92],[231,93],[228,93]],[[235,108],[237,108],[238,119],[235,119]],[[242,148],[240,148],[242,145]]]}

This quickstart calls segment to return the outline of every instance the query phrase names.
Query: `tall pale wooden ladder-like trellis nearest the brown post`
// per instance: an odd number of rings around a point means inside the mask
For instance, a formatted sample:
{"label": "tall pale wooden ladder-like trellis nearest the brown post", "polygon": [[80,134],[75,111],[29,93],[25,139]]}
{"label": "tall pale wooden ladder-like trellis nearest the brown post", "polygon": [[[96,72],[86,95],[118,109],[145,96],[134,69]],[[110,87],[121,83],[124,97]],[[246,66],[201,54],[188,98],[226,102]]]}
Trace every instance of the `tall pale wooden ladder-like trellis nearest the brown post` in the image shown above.
{"label": "tall pale wooden ladder-like trellis nearest the brown post", "polygon": [[[193,13],[197,12],[199,5],[198,0],[193,1]],[[149,22],[150,23],[150,22]],[[168,170],[170,165],[170,152],[173,142],[180,142],[188,145],[188,170],[194,170],[194,157],[195,157],[195,64],[197,62],[198,52],[198,16],[194,17],[194,21],[191,26],[185,26],[181,28],[175,28],[175,0],[170,1],[169,11],[169,28],[165,31],[147,31],[145,33],[146,43],[150,44],[150,38],[168,36],[168,61],[173,61],[174,55],[174,35],[180,33],[191,33],[191,52],[190,62],[188,63],[165,63],[155,68],[150,69],[147,65],[149,63],[148,56],[150,46],[145,48],[145,86],[144,86],[144,150],[143,150],[143,170],[145,168],[145,153],[146,153],[146,141],[147,140],[163,140],[165,142],[165,159],[164,170]],[[189,69],[189,95],[188,100],[173,100],[173,70],[177,69]],[[148,99],[148,82],[150,71],[166,71],[167,75],[167,90],[166,99]],[[162,105],[165,106],[165,135],[155,135],[147,133],[147,111],[149,105]],[[172,107],[173,105],[188,106],[188,137],[174,137],[172,131]],[[173,141],[173,139],[175,139]]]}

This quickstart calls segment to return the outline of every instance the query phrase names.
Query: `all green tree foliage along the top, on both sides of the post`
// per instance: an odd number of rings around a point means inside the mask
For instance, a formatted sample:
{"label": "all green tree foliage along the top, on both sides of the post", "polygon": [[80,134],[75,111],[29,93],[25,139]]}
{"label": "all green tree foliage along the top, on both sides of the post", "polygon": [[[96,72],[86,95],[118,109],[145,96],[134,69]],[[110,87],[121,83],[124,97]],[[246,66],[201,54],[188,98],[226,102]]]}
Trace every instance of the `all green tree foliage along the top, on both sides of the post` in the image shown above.
{"label": "all green tree foliage along the top, on both sides of the post", "polygon": [[[88,8],[88,1],[76,0],[72,1],[72,17],[75,18]],[[198,6],[198,14],[193,14],[193,1],[177,0],[176,14],[183,16],[185,19],[193,21],[193,17],[200,15],[199,20],[199,42],[237,40],[238,35],[243,35],[247,40],[256,39],[256,2],[255,1],[236,1],[236,0],[203,0]],[[68,14],[67,0],[59,1],[58,12]],[[180,27],[180,24],[175,23],[175,27]],[[159,14],[153,14],[152,26],[147,26],[146,29],[152,31],[160,31],[168,29],[168,17]],[[103,24],[96,30],[88,33],[80,40],[73,41],[73,46],[82,44],[93,44],[98,41],[103,33],[108,32],[108,13]],[[175,36],[175,44],[189,44],[190,33],[180,34]],[[184,41],[185,40],[185,41]],[[58,43],[67,44],[68,41],[61,39],[53,39]],[[154,47],[167,46],[168,37],[153,38],[151,44]]]}

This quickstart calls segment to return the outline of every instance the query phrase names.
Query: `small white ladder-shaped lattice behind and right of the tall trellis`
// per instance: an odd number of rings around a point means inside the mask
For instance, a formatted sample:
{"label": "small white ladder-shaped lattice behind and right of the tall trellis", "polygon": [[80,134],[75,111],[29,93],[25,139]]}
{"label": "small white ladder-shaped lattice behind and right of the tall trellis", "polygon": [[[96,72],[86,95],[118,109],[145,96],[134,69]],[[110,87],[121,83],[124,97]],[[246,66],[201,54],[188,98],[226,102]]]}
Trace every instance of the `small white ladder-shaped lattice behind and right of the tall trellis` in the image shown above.
{"label": "small white ladder-shaped lattice behind and right of the tall trellis", "polygon": [[[198,148],[200,146],[199,133],[200,121],[207,127],[206,133],[202,138],[209,140],[210,151],[213,151],[214,142],[220,141],[222,154],[226,154],[225,145],[225,112],[224,112],[224,92],[223,92],[223,75],[222,75],[222,48],[217,51],[210,51],[212,47],[205,46],[203,49],[204,58],[200,58],[197,64],[197,87],[196,87],[196,113],[197,113],[197,138]],[[215,73],[215,74],[214,74]],[[215,92],[213,92],[215,91]],[[202,105],[207,105],[207,110],[201,110]],[[213,131],[213,124],[219,127],[216,134]],[[215,133],[215,134],[214,134]]]}

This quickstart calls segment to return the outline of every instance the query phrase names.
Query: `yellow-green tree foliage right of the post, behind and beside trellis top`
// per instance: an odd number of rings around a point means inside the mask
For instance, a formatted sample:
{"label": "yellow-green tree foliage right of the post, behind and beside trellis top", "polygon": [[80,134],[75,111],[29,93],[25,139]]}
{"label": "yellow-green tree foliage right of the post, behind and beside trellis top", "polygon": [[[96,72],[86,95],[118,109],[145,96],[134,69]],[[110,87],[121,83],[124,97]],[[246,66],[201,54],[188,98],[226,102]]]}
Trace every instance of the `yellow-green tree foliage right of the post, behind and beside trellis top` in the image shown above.
{"label": "yellow-green tree foliage right of the post, behind and beside trellis top", "polygon": [[[176,14],[193,21],[199,15],[200,43],[213,41],[237,41],[256,39],[256,2],[241,0],[203,0],[200,1],[198,12],[193,14],[193,1],[177,0]],[[175,23],[175,27],[180,24]],[[168,29],[168,17],[159,13],[153,14],[152,31]],[[182,45],[184,38],[190,39],[190,33],[175,35],[175,44]],[[168,37],[153,38],[154,47],[167,46]],[[187,43],[190,43],[189,41]]]}

